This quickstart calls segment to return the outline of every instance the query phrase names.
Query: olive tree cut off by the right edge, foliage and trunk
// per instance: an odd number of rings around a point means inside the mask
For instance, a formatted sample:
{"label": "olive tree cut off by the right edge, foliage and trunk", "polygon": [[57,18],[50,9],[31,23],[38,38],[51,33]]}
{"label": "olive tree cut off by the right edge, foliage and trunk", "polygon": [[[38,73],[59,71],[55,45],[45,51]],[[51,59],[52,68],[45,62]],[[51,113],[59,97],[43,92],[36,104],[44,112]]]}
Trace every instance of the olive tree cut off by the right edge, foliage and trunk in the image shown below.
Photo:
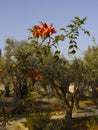
{"label": "olive tree cut off by the right edge, foliage and trunk", "polygon": [[98,93],[96,87],[98,86],[98,45],[89,46],[84,53],[84,65],[85,65],[85,80],[86,84],[92,88],[92,97],[96,104],[96,98]]}

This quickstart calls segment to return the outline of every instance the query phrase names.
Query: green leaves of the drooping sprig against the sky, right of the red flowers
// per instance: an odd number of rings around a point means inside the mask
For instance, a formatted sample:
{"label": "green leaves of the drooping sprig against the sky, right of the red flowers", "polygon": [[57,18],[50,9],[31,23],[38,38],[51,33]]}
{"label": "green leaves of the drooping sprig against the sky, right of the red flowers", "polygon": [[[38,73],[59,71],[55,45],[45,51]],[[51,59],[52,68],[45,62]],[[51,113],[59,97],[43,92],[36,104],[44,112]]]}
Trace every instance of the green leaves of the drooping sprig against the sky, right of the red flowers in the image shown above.
{"label": "green leaves of the drooping sprig against the sky, right of the red flowers", "polygon": [[72,23],[67,26],[68,31],[65,34],[65,37],[69,39],[69,52],[71,54],[75,54],[76,49],[78,48],[77,39],[79,37],[80,30],[82,30],[85,34],[90,36],[90,33],[84,28],[82,28],[82,25],[85,23],[86,19],[86,17],[84,17],[83,19],[75,17],[75,19],[72,20]]}

